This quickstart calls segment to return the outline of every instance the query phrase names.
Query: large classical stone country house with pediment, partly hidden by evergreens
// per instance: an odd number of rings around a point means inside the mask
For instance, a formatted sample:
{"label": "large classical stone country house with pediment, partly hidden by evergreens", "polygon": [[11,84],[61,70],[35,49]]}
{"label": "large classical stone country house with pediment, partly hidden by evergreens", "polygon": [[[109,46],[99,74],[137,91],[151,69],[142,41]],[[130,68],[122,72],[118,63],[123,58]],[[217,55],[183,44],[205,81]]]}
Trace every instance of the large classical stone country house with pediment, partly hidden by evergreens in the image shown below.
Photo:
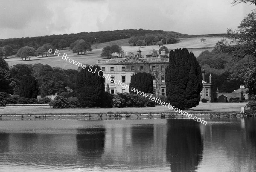
{"label": "large classical stone country house with pediment, partly hidden by evergreens", "polygon": [[[140,51],[139,51],[140,52]],[[108,60],[96,60],[96,65],[100,66],[105,75],[110,75],[114,80],[120,80],[127,85],[130,84],[131,76],[138,72],[148,72],[153,76],[154,94],[166,96],[165,69],[169,64],[169,57],[162,52],[161,55],[155,56],[155,53],[149,53],[146,57],[140,54],[130,56],[121,56],[113,54],[114,58]],[[205,98],[208,102],[212,101],[212,83],[211,77],[209,83],[204,78],[205,71],[202,71],[204,89],[201,92],[201,99]],[[111,80],[105,80],[105,88],[110,93],[129,92],[120,84]]]}

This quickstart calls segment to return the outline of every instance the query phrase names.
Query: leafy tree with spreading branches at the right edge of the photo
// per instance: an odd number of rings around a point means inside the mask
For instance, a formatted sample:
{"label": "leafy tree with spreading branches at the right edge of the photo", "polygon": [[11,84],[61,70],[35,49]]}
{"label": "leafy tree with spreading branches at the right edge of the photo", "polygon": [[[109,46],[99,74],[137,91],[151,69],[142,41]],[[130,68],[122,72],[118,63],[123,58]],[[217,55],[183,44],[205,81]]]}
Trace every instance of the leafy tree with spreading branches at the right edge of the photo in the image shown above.
{"label": "leafy tree with spreading branches at the right edge of the photo", "polygon": [[[236,2],[251,2],[251,1],[236,1]],[[253,3],[253,2],[252,2]],[[222,39],[215,45],[215,49],[219,52],[228,53],[233,56],[233,79],[241,79],[244,81],[248,93],[256,95],[256,12],[253,11],[241,21],[238,28],[233,31],[227,29],[227,35],[231,42]],[[235,45],[231,45],[231,43]],[[248,56],[253,57],[249,63],[243,65],[235,65]],[[239,67],[239,68],[237,68]],[[239,72],[237,72],[239,71]]]}

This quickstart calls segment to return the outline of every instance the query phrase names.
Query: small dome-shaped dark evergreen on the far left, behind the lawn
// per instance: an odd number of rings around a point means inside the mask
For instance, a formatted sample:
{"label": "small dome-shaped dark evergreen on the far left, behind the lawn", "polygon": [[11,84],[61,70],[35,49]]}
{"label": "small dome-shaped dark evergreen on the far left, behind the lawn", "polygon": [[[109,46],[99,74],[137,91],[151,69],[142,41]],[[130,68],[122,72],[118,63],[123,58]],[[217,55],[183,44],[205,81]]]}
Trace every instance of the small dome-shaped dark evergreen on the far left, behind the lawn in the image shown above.
{"label": "small dome-shaped dark evergreen on the far left, behind the lawn", "polygon": [[20,81],[20,97],[36,98],[38,87],[38,80],[35,77],[24,76]]}

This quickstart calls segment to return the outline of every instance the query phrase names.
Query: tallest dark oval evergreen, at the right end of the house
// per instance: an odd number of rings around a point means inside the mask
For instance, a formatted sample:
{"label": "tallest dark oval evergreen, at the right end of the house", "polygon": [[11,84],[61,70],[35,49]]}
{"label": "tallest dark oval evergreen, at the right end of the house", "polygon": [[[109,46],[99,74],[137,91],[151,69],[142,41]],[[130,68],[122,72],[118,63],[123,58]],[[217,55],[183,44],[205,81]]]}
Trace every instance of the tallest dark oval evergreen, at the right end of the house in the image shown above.
{"label": "tallest dark oval evergreen, at the right end of the house", "polygon": [[186,49],[171,50],[166,68],[166,95],[168,102],[179,109],[195,107],[203,89],[201,67],[195,55]]}

